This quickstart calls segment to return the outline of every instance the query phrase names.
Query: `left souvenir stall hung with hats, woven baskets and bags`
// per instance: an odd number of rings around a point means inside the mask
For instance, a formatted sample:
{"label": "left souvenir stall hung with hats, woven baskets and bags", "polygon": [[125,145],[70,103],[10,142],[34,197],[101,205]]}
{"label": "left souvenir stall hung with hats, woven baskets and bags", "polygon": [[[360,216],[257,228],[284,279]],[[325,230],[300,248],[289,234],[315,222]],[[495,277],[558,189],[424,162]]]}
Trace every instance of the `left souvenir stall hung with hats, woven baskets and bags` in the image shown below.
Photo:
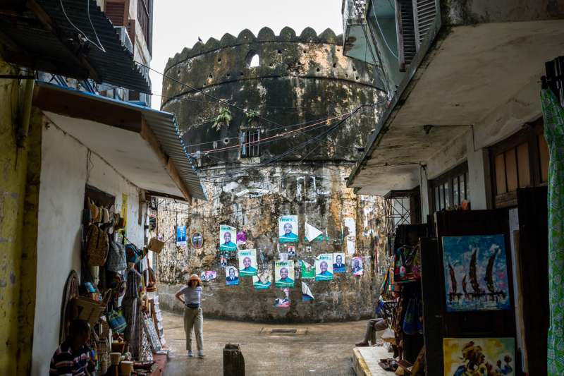
{"label": "left souvenir stall hung with hats, woven baskets and bags", "polygon": [[138,247],[130,242],[126,211],[117,212],[115,202],[97,188],[85,190],[80,277],[71,272],[65,286],[61,341],[73,319],[86,320],[96,375],[161,375],[168,349],[155,327],[152,306],[158,296],[149,303],[157,277],[147,253],[149,248],[161,252],[163,244],[152,239],[148,247]]}

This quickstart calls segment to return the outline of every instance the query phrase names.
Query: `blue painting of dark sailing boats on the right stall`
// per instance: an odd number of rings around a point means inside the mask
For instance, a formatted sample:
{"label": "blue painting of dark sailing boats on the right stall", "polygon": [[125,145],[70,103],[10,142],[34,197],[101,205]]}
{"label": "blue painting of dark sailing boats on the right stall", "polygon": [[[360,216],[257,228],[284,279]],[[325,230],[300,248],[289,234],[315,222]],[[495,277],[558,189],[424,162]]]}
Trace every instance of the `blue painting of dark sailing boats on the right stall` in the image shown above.
{"label": "blue painting of dark sailing boats on the right stall", "polygon": [[510,308],[503,235],[443,236],[443,260],[448,312]]}

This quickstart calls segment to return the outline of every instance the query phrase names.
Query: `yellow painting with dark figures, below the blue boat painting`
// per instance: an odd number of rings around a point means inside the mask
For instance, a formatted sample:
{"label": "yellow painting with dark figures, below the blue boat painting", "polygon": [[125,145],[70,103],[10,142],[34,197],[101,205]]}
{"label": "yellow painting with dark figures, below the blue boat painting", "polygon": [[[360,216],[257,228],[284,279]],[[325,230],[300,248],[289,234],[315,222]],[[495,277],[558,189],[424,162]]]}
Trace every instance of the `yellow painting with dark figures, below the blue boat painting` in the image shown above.
{"label": "yellow painting with dark figures, below the blue boat painting", "polygon": [[515,339],[445,338],[445,376],[515,376]]}

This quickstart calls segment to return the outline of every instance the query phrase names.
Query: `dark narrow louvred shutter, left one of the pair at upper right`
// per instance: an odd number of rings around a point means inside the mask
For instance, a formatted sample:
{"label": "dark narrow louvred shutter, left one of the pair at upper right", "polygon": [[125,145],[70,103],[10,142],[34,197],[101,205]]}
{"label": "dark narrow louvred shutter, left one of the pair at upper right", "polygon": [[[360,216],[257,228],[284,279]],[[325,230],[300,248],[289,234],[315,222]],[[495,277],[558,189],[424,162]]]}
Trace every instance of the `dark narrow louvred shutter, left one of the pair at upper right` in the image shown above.
{"label": "dark narrow louvred shutter, left one of the pair at upper right", "polygon": [[398,34],[400,72],[405,72],[413,60],[415,52],[417,52],[413,0],[396,0],[396,31]]}

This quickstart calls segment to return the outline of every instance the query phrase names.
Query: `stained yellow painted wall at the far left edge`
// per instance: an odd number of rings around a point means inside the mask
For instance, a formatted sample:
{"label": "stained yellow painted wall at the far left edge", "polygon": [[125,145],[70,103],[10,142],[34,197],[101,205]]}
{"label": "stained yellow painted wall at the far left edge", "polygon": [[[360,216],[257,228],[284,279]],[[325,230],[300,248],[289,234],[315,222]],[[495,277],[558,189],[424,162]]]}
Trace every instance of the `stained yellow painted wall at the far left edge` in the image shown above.
{"label": "stained yellow painted wall at the far left edge", "polygon": [[[18,71],[1,59],[0,74]],[[0,79],[0,375],[29,375],[37,271],[42,115],[18,148],[25,81]]]}

